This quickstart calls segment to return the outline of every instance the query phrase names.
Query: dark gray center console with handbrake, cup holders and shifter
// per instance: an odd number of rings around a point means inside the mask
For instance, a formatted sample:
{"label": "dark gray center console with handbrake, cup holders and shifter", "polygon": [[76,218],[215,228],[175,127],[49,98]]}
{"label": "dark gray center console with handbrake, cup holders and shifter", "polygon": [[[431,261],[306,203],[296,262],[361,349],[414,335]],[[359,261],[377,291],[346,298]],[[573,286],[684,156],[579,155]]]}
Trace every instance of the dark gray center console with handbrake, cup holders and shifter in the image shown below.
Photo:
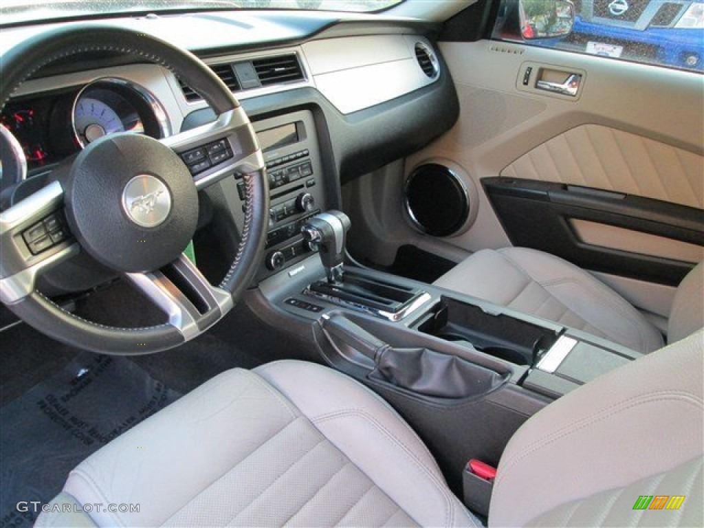
{"label": "dark gray center console with handbrake, cup holders and shifter", "polygon": [[[304,234],[316,218],[303,221]],[[310,251],[341,251],[320,237],[306,234]],[[319,359],[389,401],[458,494],[467,460],[496,465],[531,415],[640,356],[432,284],[359,267],[331,272],[336,262],[308,254],[261,281],[251,306],[270,324],[312,337]]]}

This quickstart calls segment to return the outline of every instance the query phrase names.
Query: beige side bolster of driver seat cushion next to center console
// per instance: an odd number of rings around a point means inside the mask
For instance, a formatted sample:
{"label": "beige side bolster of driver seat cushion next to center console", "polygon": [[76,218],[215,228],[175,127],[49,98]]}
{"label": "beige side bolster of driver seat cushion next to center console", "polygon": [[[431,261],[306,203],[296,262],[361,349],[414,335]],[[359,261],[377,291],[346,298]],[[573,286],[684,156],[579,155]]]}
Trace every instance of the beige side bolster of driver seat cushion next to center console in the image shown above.
{"label": "beige side bolster of driver seat cushion next to center console", "polygon": [[294,360],[263,365],[255,372],[417,523],[475,524],[422,441],[372,391],[327,367]]}

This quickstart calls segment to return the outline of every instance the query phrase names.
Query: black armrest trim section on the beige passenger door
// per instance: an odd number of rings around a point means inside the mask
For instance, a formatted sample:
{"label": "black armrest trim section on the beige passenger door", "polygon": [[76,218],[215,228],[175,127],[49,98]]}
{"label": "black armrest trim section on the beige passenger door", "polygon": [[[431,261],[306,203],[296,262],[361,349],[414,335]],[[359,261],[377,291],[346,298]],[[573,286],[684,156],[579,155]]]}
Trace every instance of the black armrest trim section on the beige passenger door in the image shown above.
{"label": "black armrest trim section on the beige passenger door", "polygon": [[552,253],[581,268],[676,286],[693,265],[584,244],[570,227],[570,219],[704,245],[704,214],[698,208],[516,178],[483,178],[482,186],[512,244]]}

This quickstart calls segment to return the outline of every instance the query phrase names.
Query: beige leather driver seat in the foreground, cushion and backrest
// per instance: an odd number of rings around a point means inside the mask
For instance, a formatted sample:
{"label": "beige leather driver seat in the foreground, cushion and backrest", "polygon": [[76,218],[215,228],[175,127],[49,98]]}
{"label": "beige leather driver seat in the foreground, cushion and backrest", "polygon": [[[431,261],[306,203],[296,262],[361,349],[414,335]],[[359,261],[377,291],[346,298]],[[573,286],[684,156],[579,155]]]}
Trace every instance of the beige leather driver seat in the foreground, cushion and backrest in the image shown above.
{"label": "beige leather driver seat in the foreground, cushion and backrest", "polygon": [[[703,339],[635,360],[528,420],[501,458],[489,524],[704,525]],[[685,498],[678,510],[634,510],[643,495]],[[87,458],[47,509],[37,526],[479,524],[381,398],[293,360],[210,380]]]}

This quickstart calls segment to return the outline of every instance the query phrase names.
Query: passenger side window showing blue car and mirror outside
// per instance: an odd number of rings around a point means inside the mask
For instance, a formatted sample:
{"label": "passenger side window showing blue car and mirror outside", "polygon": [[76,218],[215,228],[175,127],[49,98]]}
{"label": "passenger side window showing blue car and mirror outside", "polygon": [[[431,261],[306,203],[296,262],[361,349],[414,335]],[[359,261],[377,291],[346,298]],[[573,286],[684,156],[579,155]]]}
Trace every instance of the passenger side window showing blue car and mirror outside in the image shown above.
{"label": "passenger side window showing blue car and mirror outside", "polygon": [[[565,0],[567,1],[567,0]],[[572,30],[563,1],[501,0],[492,38],[606,58],[704,72],[704,0],[572,0]],[[548,7],[546,7],[548,6]],[[538,14],[551,13],[549,17]],[[556,14],[553,14],[556,13]]]}

